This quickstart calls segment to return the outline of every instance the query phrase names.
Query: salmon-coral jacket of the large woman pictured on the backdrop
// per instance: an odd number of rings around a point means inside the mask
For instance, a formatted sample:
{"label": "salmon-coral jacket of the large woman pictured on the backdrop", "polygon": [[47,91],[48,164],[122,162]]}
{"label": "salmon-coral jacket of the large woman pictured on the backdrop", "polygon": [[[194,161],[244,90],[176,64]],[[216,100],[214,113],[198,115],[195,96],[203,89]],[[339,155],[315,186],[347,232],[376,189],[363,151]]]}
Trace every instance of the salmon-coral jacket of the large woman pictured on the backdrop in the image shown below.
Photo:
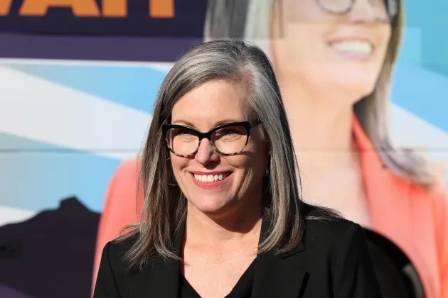
{"label": "salmon-coral jacket of the large woman pictured on the backdrop", "polygon": [[[373,230],[389,238],[415,265],[427,298],[448,298],[448,196],[444,184],[421,187],[383,166],[373,144],[353,117],[353,136],[361,151],[361,169]],[[139,220],[142,193],[139,169],[127,160],[114,173],[98,228],[93,285],[102,248],[123,226]]]}

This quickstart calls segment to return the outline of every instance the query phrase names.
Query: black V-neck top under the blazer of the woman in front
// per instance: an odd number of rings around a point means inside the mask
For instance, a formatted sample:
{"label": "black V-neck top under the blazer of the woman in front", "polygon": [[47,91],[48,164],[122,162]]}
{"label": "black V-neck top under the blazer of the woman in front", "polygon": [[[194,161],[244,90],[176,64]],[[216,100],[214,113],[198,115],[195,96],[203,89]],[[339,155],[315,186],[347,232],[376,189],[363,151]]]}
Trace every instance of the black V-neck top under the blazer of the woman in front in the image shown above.
{"label": "black V-neck top under the blazer of the woman in front", "polygon": [[[252,294],[252,286],[254,282],[255,274],[255,259],[246,271],[242,273],[240,279],[236,283],[235,287],[224,298],[250,298]],[[188,280],[181,275],[179,282],[179,298],[201,298],[198,292],[190,285]]]}

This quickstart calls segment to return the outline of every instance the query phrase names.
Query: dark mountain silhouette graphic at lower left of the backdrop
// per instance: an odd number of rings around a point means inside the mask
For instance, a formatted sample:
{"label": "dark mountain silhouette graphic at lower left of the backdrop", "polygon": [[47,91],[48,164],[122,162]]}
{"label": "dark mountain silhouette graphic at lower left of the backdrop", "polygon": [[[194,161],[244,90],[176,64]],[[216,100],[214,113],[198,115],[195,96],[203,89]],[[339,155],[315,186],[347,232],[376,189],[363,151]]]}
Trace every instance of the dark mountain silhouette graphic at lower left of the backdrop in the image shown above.
{"label": "dark mountain silhouette graphic at lower left of the backdrop", "polygon": [[38,298],[90,297],[99,219],[68,197],[58,209],[1,226],[0,285]]}

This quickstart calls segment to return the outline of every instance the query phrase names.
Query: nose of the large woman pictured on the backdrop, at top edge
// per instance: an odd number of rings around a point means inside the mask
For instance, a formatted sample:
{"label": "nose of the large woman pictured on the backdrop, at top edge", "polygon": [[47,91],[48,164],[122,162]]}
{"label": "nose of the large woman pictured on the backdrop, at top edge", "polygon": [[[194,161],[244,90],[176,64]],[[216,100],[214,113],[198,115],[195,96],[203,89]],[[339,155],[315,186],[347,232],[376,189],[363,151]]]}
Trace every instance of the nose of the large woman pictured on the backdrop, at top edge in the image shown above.
{"label": "nose of the large woman pictured on the backdrop, at top edge", "polygon": [[387,21],[388,11],[384,0],[355,0],[347,17],[353,23]]}

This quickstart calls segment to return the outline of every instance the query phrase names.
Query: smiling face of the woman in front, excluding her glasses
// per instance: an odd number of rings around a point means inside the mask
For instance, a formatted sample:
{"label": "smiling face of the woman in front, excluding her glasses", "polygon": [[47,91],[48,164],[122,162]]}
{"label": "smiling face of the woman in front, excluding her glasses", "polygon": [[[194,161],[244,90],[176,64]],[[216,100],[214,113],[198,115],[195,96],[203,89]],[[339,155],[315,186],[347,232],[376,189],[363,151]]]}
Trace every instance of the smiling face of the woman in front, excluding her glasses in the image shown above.
{"label": "smiling face of the woman in front, excluding her glasses", "polygon": [[[246,121],[247,116],[252,120],[256,116],[250,114],[246,94],[246,88],[240,84],[206,82],[174,105],[171,123],[207,132],[224,123]],[[171,153],[174,175],[189,208],[206,214],[223,214],[260,204],[266,160],[260,126],[252,128],[245,149],[237,155],[220,155],[206,138],[189,158]],[[208,179],[209,175],[213,178]]]}

